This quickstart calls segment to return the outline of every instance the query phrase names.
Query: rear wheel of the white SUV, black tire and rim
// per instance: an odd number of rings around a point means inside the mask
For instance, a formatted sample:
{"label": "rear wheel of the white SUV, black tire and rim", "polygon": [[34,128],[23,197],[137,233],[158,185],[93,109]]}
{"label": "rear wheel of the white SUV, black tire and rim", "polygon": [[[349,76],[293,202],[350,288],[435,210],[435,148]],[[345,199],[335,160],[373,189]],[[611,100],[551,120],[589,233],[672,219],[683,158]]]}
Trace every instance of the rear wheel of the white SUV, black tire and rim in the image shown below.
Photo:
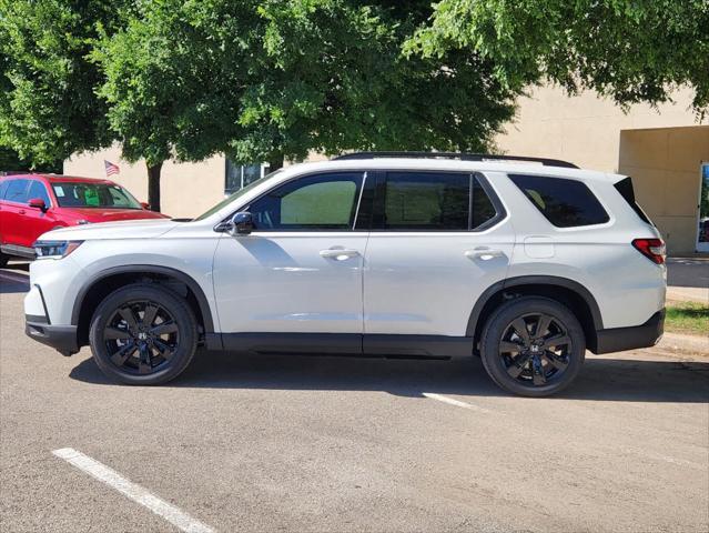
{"label": "rear wheel of the white SUV, black tire and rim", "polygon": [[548,396],[578,375],[586,336],[566,305],[523,296],[493,313],[483,330],[480,352],[485,370],[500,388],[523,396]]}

